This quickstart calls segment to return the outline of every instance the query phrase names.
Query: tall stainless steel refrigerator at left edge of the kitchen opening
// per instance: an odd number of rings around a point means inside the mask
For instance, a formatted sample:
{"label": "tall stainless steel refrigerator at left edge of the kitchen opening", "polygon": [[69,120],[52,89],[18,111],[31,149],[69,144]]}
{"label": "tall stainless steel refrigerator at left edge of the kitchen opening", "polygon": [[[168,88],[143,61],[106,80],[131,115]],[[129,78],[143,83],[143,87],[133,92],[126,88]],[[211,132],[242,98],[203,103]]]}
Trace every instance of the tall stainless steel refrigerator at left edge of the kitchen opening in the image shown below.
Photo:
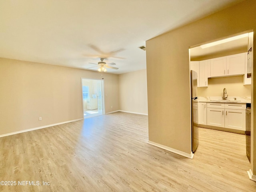
{"label": "tall stainless steel refrigerator at left edge of the kitchen opening", "polygon": [[197,73],[191,70],[191,129],[192,152],[198,147],[198,98],[197,98]]}

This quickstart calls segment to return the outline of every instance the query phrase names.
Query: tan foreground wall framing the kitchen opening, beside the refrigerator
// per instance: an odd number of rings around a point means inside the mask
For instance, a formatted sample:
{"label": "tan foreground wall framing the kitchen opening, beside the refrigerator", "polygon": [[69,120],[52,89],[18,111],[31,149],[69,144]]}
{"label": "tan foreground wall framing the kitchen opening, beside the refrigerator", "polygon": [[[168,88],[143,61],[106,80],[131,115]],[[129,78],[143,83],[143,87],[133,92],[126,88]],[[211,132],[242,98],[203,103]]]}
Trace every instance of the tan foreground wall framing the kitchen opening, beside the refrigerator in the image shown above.
{"label": "tan foreground wall framing the kitchen opening, beside the refrigerator", "polygon": [[[256,30],[255,10],[255,0],[244,1],[146,42],[150,141],[190,154],[188,48],[247,30]],[[253,81],[255,83],[254,78]],[[256,94],[253,91],[254,100]],[[252,132],[256,133],[256,118],[252,125]],[[256,134],[252,136],[253,139],[256,141]],[[256,174],[256,142],[253,142],[253,146],[251,165]]]}

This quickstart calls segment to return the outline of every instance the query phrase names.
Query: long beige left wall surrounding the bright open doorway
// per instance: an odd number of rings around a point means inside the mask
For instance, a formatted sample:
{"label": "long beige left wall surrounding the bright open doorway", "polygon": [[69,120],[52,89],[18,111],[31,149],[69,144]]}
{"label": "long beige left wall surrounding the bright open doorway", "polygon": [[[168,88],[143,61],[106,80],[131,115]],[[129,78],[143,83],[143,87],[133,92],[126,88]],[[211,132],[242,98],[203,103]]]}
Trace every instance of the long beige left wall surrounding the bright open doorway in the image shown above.
{"label": "long beige left wall surrounding the bright open doorway", "polygon": [[[0,135],[83,118],[81,78],[101,74],[0,58]],[[104,86],[105,111],[118,110],[118,75],[104,73]]]}

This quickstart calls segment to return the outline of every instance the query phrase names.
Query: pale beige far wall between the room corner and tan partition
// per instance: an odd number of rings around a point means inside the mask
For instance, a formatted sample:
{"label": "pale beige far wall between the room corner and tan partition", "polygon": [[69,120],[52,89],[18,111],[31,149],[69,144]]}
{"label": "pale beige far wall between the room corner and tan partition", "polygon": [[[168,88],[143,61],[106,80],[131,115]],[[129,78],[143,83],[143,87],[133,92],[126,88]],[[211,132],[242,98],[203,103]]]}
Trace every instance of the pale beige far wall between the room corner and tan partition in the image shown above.
{"label": "pale beige far wall between the room corner and tan partition", "polygon": [[146,70],[119,75],[120,110],[148,114]]}

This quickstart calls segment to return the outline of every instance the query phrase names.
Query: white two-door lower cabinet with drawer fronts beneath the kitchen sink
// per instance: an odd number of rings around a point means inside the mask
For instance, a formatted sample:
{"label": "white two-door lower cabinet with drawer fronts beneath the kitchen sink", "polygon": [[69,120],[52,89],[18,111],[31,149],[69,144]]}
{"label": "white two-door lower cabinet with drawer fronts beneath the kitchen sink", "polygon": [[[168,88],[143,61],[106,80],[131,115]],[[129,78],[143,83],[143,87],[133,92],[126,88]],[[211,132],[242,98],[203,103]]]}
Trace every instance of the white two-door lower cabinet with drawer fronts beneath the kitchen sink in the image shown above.
{"label": "white two-door lower cabinet with drawer fronts beneath the kitchen sink", "polygon": [[207,103],[207,125],[245,131],[245,109],[245,103],[209,102]]}

